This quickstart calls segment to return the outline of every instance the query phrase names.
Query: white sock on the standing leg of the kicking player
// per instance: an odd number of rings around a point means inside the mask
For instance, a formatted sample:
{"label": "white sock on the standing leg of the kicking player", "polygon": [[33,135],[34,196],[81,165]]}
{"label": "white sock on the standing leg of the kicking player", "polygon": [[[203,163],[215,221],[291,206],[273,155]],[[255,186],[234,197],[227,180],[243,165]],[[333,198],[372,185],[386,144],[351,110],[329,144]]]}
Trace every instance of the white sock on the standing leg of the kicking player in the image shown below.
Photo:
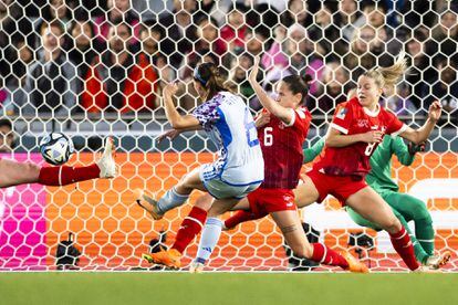
{"label": "white sock on the standing leg of the kicking player", "polygon": [[215,246],[218,244],[219,236],[221,235],[222,221],[218,218],[209,218],[205,223],[202,234],[199,241],[199,248],[197,251],[196,262],[205,264],[210,259]]}

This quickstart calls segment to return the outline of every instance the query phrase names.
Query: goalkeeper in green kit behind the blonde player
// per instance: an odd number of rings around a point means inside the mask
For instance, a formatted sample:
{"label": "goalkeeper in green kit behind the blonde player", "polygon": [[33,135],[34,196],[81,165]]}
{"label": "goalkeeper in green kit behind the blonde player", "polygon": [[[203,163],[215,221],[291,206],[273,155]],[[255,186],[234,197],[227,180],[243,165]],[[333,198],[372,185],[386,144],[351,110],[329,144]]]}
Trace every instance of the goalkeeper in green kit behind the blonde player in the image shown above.
{"label": "goalkeeper in green kit behind the blonde player", "polygon": [[[312,147],[304,149],[304,164],[312,161],[319,156],[324,147],[324,138],[320,139]],[[409,143],[407,146],[400,137],[385,136],[371,157],[371,171],[366,176],[366,182],[378,192],[382,198],[392,207],[393,212],[406,228],[410,240],[414,244],[415,256],[424,265],[439,267],[450,260],[450,253],[444,253],[440,256],[434,255],[433,219],[426,204],[407,193],[400,193],[399,187],[392,180],[392,156],[404,166],[410,166],[414,162],[415,154],[424,151],[425,144],[415,145]],[[345,207],[348,215],[354,222],[362,227],[379,231],[381,228],[367,221],[356,213],[352,208]],[[415,235],[409,230],[407,222],[414,221]]]}

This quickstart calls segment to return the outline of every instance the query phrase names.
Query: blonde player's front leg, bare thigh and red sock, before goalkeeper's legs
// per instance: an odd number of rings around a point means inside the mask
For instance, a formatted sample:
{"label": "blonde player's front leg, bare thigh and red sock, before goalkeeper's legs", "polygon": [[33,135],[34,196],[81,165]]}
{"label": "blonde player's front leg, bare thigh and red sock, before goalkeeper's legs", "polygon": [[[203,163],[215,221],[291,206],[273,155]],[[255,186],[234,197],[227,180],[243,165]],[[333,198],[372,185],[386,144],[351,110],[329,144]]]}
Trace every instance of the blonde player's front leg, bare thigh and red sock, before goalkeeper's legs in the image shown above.
{"label": "blonde player's front leg, bare thigh and red sock, before goalkeeper's legs", "polygon": [[360,189],[346,199],[346,204],[363,218],[389,233],[396,252],[410,270],[419,269],[410,238],[391,207],[371,187]]}

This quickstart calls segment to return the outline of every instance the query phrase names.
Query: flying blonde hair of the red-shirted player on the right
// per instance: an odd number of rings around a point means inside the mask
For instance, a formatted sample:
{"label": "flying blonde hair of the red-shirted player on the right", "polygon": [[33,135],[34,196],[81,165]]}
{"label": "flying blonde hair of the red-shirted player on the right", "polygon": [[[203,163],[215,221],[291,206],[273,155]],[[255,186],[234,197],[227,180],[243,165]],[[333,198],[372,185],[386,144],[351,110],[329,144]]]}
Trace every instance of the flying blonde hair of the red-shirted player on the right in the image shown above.
{"label": "flying blonde hair of the red-shirted player on the right", "polygon": [[373,78],[381,88],[394,87],[407,71],[405,55],[405,52],[402,51],[392,66],[372,69],[363,75]]}

